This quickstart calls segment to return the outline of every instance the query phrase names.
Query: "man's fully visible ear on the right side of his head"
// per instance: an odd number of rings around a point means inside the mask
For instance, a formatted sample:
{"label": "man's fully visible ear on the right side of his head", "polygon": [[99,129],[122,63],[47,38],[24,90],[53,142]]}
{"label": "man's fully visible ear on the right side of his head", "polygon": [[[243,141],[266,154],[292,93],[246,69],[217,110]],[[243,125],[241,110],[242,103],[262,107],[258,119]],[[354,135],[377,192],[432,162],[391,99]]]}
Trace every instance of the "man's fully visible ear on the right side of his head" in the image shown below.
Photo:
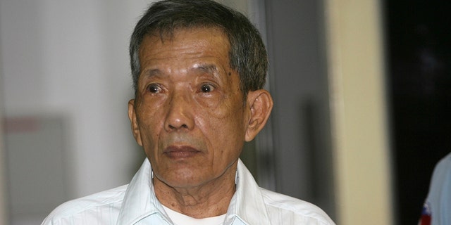
{"label": "man's fully visible ear on the right side of his head", "polygon": [[266,121],[268,121],[273,108],[273,98],[264,89],[249,91],[247,94],[247,105],[250,108],[250,117],[247,121],[245,141],[252,141],[263,129]]}

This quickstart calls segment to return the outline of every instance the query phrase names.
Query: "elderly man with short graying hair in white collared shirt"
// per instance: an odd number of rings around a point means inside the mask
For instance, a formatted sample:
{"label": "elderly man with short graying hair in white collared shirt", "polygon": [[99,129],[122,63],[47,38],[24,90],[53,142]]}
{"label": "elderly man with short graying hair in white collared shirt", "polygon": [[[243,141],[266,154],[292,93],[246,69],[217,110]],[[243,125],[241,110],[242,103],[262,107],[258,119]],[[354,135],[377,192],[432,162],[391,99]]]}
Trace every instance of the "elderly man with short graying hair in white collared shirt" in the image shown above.
{"label": "elderly man with short graying hair in white collared shirt", "polygon": [[333,224],[259,188],[238,158],[273,106],[266,49],[244,15],[160,1],[137,23],[130,57],[128,115],[147,160],[128,186],[65,203],[43,224]]}

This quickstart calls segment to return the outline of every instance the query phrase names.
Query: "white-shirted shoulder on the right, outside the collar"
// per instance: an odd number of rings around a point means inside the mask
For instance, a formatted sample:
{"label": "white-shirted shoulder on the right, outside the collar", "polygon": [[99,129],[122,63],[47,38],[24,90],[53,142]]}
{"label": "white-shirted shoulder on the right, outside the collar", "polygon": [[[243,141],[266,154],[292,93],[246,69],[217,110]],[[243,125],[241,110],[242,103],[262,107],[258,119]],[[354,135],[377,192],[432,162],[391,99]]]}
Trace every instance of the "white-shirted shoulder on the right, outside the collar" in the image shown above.
{"label": "white-shirted shoulder on the right, outside the collar", "polygon": [[330,217],[316,205],[304,200],[292,198],[273,191],[261,188],[270,217],[283,217],[291,220],[287,224],[335,224]]}

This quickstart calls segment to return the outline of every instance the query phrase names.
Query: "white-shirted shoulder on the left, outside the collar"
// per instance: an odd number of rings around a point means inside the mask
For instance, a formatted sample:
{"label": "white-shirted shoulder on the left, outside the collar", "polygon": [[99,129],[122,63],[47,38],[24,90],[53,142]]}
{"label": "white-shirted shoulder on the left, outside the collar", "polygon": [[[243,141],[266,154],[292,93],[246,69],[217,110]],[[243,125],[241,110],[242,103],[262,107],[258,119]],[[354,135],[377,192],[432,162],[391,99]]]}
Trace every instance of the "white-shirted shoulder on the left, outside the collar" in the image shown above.
{"label": "white-shirted shoulder on the left, outside the collar", "polygon": [[[90,224],[89,217],[117,217],[128,185],[70,200],[56,207],[42,224]],[[82,219],[83,222],[78,222]]]}

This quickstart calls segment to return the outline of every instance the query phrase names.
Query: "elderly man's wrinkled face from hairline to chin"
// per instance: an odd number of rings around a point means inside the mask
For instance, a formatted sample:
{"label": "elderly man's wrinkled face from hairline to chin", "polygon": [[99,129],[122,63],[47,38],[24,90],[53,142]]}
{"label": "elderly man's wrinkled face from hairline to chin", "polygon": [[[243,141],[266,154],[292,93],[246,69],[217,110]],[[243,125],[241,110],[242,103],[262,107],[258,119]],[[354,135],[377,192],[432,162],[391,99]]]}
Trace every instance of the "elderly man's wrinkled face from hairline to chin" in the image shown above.
{"label": "elderly man's wrinkled face from hairline to chin", "polygon": [[174,188],[206,184],[235,173],[250,110],[230,69],[221,30],[175,30],[173,39],[147,36],[129,116],[154,176]]}

